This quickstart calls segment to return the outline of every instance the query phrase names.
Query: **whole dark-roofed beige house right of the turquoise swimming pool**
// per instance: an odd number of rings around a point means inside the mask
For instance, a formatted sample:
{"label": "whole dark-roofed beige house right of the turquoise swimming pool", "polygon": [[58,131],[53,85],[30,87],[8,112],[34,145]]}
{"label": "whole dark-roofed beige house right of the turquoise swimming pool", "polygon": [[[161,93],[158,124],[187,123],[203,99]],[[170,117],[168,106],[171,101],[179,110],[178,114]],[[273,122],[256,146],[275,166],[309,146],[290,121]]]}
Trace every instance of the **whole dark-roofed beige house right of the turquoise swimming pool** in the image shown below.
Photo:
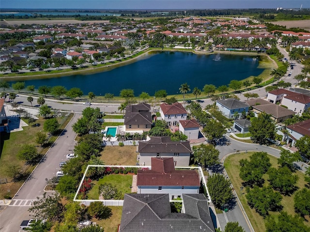
{"label": "whole dark-roofed beige house right of the turquoise swimming pool", "polygon": [[124,117],[126,131],[150,131],[152,127],[151,106],[145,102],[127,105]]}

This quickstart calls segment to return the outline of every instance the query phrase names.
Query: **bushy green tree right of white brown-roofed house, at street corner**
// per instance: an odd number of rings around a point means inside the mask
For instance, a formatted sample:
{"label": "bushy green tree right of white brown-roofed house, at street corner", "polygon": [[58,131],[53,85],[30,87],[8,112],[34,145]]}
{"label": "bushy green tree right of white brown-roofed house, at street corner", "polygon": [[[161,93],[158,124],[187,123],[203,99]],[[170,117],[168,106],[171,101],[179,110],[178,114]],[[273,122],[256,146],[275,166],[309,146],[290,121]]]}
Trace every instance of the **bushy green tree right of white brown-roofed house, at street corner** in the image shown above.
{"label": "bushy green tree right of white brown-roofed house, at street corner", "polygon": [[201,163],[205,167],[219,164],[219,151],[214,145],[201,144],[193,147],[194,159],[196,163]]}

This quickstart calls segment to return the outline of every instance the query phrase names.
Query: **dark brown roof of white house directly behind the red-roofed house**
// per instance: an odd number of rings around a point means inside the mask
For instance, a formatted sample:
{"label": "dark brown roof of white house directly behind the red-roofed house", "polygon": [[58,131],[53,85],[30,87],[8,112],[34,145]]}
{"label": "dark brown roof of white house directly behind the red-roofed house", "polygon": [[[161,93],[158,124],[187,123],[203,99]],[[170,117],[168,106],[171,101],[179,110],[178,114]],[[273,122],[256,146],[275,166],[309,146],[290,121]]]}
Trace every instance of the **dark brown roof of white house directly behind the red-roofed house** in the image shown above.
{"label": "dark brown roof of white house directly behind the red-roofed house", "polygon": [[143,153],[192,153],[189,141],[172,142],[169,136],[151,137],[150,141],[140,141],[138,151]]}

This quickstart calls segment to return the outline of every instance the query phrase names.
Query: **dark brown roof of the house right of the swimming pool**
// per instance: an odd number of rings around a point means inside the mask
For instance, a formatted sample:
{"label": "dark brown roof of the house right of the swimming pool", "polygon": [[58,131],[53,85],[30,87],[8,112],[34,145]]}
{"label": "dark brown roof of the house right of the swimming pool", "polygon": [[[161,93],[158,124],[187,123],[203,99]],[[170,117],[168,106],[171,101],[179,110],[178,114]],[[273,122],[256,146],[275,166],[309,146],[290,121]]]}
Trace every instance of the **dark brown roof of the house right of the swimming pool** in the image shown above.
{"label": "dark brown roof of the house right of the swimming pool", "polygon": [[147,103],[127,105],[124,118],[125,125],[152,124],[151,106]]}

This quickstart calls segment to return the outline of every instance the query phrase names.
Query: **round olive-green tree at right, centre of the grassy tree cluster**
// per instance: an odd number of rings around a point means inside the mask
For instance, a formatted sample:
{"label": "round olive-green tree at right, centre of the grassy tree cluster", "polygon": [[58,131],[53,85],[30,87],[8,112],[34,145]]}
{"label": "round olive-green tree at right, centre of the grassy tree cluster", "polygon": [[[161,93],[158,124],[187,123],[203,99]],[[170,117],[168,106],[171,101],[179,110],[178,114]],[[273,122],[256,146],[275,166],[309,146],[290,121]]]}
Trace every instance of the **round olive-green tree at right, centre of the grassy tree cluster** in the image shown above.
{"label": "round olive-green tree at right, centre of the grassy tree cluster", "polygon": [[268,174],[272,188],[282,194],[288,195],[296,189],[295,184],[297,183],[298,176],[293,175],[288,167],[270,168]]}

